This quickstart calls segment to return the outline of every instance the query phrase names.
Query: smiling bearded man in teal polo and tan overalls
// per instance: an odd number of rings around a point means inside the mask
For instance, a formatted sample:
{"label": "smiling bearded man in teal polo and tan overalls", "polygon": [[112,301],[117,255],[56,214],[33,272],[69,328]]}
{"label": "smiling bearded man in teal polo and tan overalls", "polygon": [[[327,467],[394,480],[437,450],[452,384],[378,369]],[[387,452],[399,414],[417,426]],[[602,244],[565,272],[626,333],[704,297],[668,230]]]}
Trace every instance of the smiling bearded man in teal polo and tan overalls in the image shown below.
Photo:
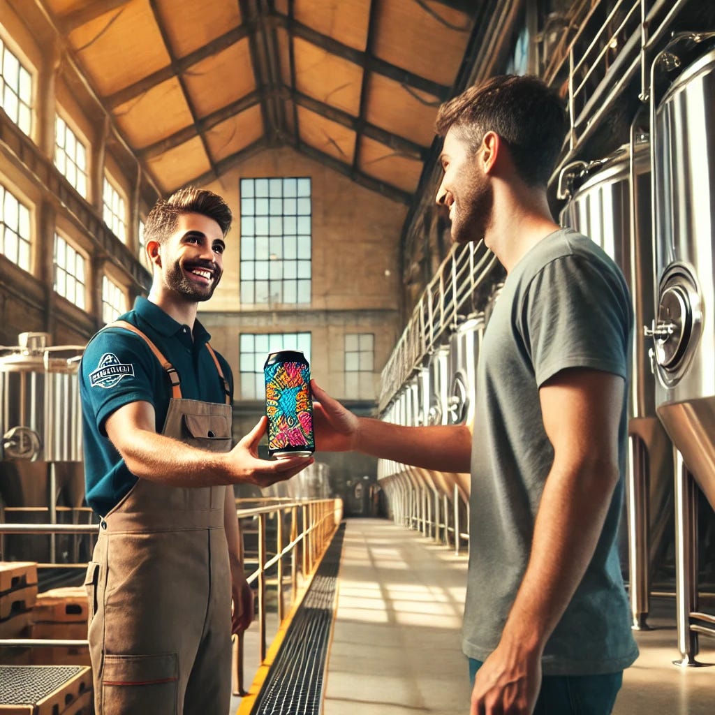
{"label": "smiling bearded man in teal polo and tan overalls", "polygon": [[265,418],[232,448],[231,370],[196,319],[231,220],[209,191],[160,199],[144,229],[149,298],[82,358],[87,502],[101,517],[86,578],[98,715],[228,713],[231,633],[253,613],[232,485],[312,461],[260,460]]}

